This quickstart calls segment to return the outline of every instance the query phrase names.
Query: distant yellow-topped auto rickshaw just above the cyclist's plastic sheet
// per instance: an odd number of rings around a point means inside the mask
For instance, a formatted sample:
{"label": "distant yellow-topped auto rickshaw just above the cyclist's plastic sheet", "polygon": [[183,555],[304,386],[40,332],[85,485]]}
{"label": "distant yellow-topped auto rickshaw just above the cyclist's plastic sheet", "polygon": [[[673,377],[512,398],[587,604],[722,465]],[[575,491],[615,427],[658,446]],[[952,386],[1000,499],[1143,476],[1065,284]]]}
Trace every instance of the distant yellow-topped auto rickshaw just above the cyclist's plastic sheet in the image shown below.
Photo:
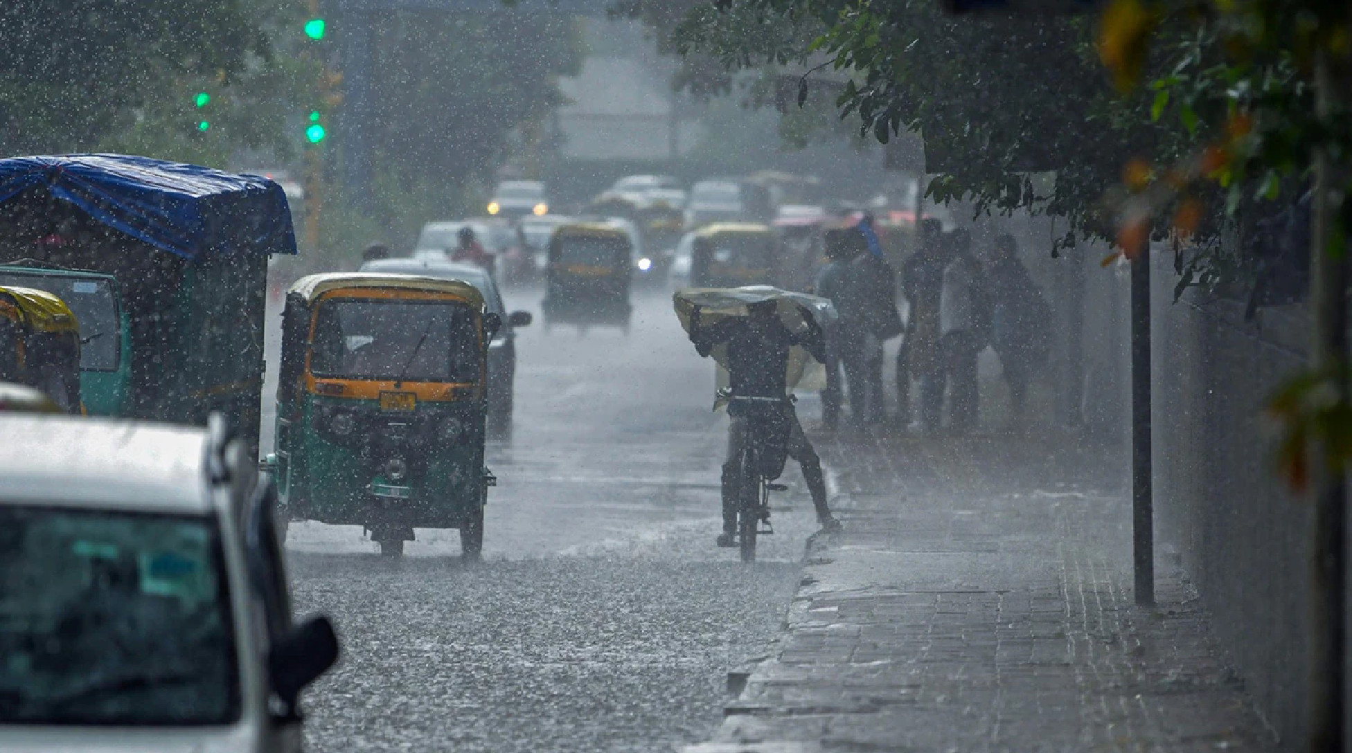
{"label": "distant yellow-topped auto rickshaw just above the cyclist's plastic sheet", "polygon": [[694,231],[690,284],[695,288],[773,285],[779,235],[768,224],[721,222]]}

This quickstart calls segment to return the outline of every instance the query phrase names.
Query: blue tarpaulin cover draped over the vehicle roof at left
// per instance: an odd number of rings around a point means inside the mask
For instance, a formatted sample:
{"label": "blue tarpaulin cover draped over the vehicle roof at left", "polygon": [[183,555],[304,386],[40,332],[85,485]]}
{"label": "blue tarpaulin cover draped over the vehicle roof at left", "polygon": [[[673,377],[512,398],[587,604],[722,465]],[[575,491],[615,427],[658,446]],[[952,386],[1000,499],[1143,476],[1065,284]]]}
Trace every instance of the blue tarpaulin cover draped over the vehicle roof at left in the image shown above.
{"label": "blue tarpaulin cover draped over the vehicle roof at left", "polygon": [[287,196],[262,176],[126,154],[0,160],[0,210],[31,189],[188,260],[296,253]]}

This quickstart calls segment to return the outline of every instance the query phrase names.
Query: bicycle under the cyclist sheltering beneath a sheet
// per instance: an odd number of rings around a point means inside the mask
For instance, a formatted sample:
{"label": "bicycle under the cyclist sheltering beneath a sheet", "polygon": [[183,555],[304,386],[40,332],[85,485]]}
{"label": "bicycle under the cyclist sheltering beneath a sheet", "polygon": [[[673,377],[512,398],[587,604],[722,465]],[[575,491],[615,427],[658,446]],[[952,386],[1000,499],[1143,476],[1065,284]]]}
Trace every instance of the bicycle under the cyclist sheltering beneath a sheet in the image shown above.
{"label": "bicycle under the cyclist sheltering beneath a sheet", "polygon": [[[737,541],[742,562],[756,561],[756,538],[775,533],[769,523],[769,492],[787,491],[775,479],[784,470],[790,397],[729,397],[745,420],[745,437],[737,464]],[[764,525],[764,527],[763,527]]]}

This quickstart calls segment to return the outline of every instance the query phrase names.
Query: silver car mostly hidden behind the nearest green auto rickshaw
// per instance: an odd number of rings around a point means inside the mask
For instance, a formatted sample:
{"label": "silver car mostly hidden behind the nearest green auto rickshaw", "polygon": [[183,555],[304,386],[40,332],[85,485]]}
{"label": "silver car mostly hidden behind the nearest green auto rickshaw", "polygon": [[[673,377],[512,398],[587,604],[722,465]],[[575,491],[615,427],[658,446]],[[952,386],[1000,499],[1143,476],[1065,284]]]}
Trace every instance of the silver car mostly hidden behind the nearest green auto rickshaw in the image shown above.
{"label": "silver car mostly hidden behind the nearest green auto rickshaw", "polygon": [[503,320],[503,329],[488,343],[488,434],[499,439],[510,438],[514,404],[512,392],[516,380],[515,330],[516,327],[530,324],[530,312],[512,311],[508,315],[503,308],[502,293],[498,291],[498,284],[493,281],[492,274],[473,264],[385,258],[368,261],[361,265],[361,272],[425,274],[442,280],[461,280],[479,288],[479,292],[484,295],[485,308],[502,316]]}

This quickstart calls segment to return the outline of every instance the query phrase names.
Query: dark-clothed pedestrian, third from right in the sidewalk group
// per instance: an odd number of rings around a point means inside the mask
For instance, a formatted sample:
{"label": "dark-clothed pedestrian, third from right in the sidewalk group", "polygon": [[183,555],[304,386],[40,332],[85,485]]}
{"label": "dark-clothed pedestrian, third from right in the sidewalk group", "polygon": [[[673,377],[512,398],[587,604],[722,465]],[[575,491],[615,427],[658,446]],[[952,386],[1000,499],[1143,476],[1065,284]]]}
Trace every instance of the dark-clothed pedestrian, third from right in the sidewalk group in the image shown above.
{"label": "dark-clothed pedestrian, third from right in the sidewalk group", "polygon": [[938,296],[944,284],[944,226],[921,220],[915,251],[902,262],[906,330],[896,349],[896,426],[911,424],[911,381],[938,364]]}

